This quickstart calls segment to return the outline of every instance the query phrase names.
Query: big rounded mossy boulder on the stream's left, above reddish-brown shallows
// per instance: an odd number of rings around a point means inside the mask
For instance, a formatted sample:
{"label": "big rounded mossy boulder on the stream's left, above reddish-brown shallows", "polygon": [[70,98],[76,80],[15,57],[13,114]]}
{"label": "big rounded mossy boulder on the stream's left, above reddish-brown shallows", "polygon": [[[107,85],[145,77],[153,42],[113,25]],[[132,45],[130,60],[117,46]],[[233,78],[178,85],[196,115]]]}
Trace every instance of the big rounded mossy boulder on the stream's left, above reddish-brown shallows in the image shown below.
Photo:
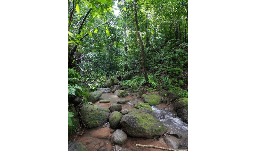
{"label": "big rounded mossy boulder on the stream's left, above reddish-brown shallows", "polygon": [[108,122],[111,114],[107,108],[93,105],[91,102],[85,104],[80,113],[83,116],[83,122],[88,128],[97,127]]}

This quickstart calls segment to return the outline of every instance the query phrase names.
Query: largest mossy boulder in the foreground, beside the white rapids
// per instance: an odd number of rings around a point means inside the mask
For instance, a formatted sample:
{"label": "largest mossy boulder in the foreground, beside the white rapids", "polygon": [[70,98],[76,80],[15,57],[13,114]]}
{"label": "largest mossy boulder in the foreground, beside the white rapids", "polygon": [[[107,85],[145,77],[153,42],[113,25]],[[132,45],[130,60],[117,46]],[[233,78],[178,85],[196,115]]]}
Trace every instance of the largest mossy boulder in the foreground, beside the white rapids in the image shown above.
{"label": "largest mossy boulder in the foreground, beside the white rapids", "polygon": [[[137,103],[138,104],[138,103]],[[131,137],[151,138],[161,136],[167,127],[154,114],[149,104],[139,103],[120,121],[123,131]]]}

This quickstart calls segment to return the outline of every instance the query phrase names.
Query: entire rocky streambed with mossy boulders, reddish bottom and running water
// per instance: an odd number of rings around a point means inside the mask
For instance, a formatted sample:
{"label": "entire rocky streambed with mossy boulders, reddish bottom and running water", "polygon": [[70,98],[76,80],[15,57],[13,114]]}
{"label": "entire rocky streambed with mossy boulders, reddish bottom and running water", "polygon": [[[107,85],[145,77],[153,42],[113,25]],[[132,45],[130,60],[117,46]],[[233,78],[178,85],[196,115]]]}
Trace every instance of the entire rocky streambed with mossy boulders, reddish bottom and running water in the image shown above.
{"label": "entire rocky streambed with mossy boulders, reddish bottom and running water", "polygon": [[[136,144],[188,149],[188,124],[178,117],[174,104],[145,103],[143,98],[132,95],[118,97],[113,90],[106,91],[108,93],[103,90],[97,101],[82,107],[87,108],[85,113],[81,110],[83,117],[102,118],[97,118],[97,121],[90,120],[92,122],[87,122],[88,128],[71,137],[69,149],[74,146],[74,141],[85,146],[88,151],[161,150],[138,147]],[[157,101],[153,100],[154,102]],[[101,110],[103,114],[89,114],[96,110]]]}

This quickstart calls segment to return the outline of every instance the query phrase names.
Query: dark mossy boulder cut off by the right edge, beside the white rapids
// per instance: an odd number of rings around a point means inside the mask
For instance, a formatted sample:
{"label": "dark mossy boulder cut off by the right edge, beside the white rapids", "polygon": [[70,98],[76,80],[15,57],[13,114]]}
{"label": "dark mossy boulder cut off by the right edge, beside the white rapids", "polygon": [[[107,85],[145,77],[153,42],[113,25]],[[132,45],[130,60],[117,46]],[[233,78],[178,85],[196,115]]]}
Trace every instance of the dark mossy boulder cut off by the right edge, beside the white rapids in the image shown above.
{"label": "dark mossy boulder cut off by the right edge, beside the white rapids", "polygon": [[174,103],[178,117],[189,124],[189,98],[180,98]]}

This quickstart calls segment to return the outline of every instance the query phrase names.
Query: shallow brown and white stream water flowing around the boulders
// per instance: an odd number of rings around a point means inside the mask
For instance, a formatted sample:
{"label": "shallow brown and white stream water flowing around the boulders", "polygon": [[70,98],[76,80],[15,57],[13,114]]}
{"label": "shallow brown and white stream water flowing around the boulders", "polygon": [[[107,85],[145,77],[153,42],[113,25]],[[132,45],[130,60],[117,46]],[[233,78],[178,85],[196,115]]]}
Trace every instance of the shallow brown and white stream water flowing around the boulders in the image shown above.
{"label": "shallow brown and white stream water flowing around the boulders", "polygon": [[[114,93],[103,93],[99,100],[109,100],[109,103],[99,103],[94,104],[109,108],[112,103],[117,103],[117,101],[129,99],[130,102],[126,104],[121,104],[122,109],[126,108],[128,110],[132,109],[137,102],[143,102],[141,98],[136,98],[128,95],[125,98],[119,98]],[[168,111],[168,104],[159,104],[156,106],[151,106],[155,115],[161,120],[167,127],[167,132],[173,131],[175,134],[181,135],[180,142],[182,144],[180,149],[186,149],[188,146],[184,146],[184,139],[188,137],[188,124],[184,123],[177,117],[175,111]],[[86,146],[88,151],[160,151],[161,149],[152,149],[138,147],[136,144],[142,145],[155,145],[159,147],[169,148],[162,137],[156,137],[155,139],[145,139],[138,137],[127,137],[126,143],[123,146],[114,145],[111,142],[111,135],[115,130],[109,126],[109,123],[101,125],[99,127],[85,129],[82,135],[77,136],[75,141],[81,142]],[[80,133],[81,134],[81,133]],[[73,138],[74,140],[74,138]],[[73,141],[72,140],[72,141]]]}

